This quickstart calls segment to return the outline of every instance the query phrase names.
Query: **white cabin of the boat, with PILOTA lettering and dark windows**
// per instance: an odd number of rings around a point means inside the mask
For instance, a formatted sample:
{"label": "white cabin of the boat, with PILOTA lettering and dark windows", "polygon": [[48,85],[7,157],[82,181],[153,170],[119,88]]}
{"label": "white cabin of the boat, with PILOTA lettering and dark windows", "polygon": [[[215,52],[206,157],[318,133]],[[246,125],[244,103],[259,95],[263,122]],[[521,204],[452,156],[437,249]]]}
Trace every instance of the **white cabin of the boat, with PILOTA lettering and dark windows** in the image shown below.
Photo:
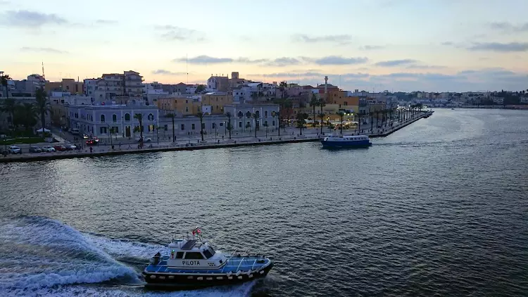
{"label": "white cabin of the boat, with PILOTA lettering and dark windows", "polygon": [[172,241],[168,248],[167,266],[171,268],[214,270],[227,263],[221,251],[215,251],[208,242],[198,239],[178,239]]}

